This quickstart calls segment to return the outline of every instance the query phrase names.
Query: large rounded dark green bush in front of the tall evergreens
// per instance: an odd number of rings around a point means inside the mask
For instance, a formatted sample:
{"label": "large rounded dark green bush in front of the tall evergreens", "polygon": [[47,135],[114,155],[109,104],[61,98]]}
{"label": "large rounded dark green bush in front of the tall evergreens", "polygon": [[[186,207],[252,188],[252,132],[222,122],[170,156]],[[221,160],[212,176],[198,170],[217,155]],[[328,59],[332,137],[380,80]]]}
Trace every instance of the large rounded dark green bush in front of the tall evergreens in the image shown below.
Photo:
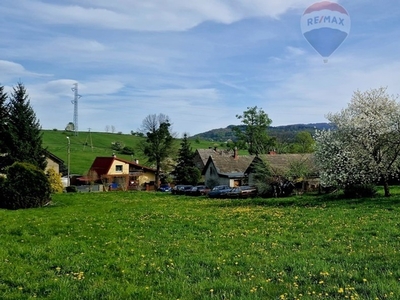
{"label": "large rounded dark green bush in front of the tall evergreens", "polygon": [[7,169],[2,183],[0,207],[8,209],[41,207],[51,199],[46,174],[29,163],[16,162]]}

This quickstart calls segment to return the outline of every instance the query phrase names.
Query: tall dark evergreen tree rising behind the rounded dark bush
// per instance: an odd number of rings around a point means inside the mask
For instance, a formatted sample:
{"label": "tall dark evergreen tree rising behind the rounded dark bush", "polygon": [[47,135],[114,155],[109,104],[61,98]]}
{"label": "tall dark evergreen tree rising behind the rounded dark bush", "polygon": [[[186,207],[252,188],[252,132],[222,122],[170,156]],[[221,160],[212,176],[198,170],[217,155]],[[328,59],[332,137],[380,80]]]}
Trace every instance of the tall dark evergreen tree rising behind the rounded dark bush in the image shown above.
{"label": "tall dark evergreen tree rising behind the rounded dark bush", "polygon": [[47,162],[45,149],[42,147],[43,133],[22,83],[13,88],[9,100],[7,165],[27,162],[44,170]]}

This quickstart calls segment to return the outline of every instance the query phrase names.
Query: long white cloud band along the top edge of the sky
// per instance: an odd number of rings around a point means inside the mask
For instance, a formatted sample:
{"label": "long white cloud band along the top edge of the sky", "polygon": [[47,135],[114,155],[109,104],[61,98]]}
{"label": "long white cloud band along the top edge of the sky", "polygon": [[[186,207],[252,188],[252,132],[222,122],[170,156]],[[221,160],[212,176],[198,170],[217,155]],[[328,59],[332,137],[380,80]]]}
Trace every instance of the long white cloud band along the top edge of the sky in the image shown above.
{"label": "long white cloud band along the top edge of the sky", "polygon": [[230,24],[250,17],[276,18],[310,0],[87,0],[62,5],[20,1],[34,18],[51,24],[81,24],[130,30],[187,30],[205,21]]}

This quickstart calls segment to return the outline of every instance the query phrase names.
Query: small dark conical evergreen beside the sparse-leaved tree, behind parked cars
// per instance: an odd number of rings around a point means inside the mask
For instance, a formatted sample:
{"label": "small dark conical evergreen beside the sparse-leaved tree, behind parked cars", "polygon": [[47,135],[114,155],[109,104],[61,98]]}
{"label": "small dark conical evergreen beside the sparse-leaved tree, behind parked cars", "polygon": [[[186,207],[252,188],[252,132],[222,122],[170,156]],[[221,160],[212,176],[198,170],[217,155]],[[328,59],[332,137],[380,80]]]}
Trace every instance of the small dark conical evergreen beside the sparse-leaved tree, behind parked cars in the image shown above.
{"label": "small dark conical evergreen beside the sparse-leaved tree, behind parked cars", "polygon": [[200,170],[195,166],[193,158],[194,152],[185,133],[179,149],[177,165],[172,172],[176,183],[195,185],[199,182],[201,174]]}

